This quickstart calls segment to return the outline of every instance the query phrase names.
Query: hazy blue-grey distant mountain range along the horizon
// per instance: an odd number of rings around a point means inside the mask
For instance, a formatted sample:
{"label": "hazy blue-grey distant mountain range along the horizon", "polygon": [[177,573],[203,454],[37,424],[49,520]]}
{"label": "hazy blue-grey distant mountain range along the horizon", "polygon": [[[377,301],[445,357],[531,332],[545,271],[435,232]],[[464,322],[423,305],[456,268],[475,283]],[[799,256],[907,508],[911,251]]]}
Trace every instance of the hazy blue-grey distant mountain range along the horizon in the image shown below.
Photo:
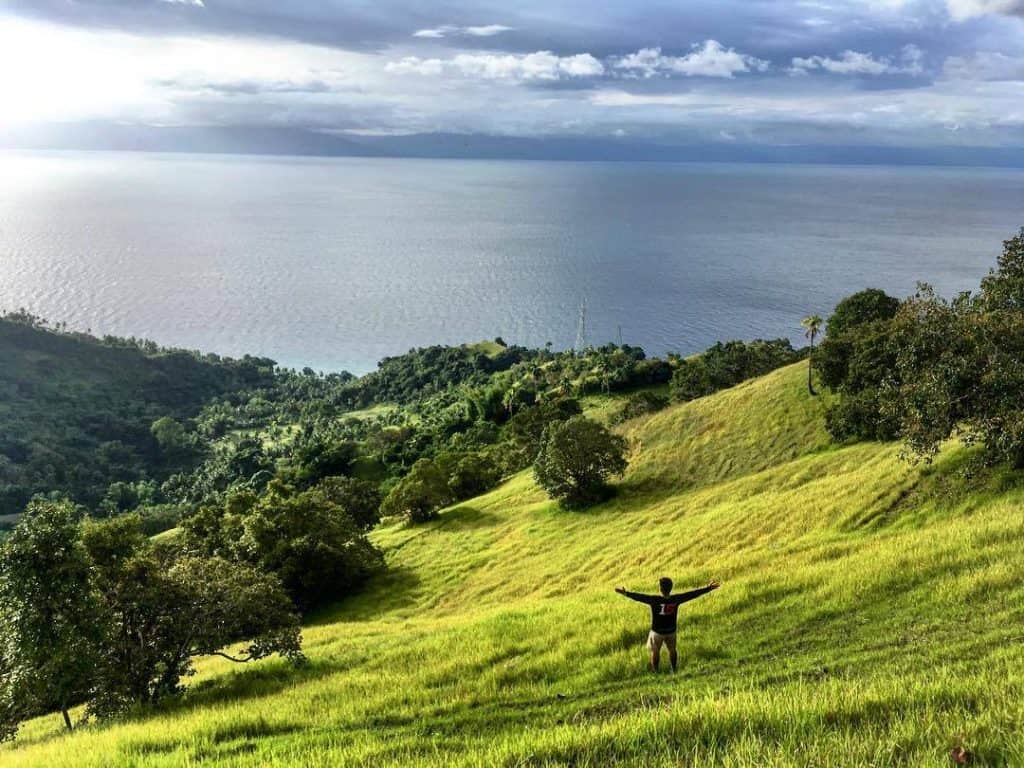
{"label": "hazy blue-grey distant mountain range along the horizon", "polygon": [[0,129],[0,147],[295,155],[732,163],[839,163],[1024,168],[1024,146],[669,144],[630,138],[524,138],[483,134],[338,135],[265,126],[63,123]]}

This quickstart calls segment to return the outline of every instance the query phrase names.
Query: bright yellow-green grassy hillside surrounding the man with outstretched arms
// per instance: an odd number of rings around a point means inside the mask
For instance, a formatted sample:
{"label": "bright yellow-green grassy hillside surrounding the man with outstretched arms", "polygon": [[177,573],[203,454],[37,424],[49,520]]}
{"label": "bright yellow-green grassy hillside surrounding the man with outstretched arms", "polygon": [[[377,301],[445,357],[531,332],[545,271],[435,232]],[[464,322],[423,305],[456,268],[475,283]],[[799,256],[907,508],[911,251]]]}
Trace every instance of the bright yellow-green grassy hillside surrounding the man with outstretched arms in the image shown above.
{"label": "bright yellow-green grassy hillside surrounding the man with outstretched arms", "polygon": [[[7,766],[1024,764],[1024,486],[952,446],[829,445],[803,365],[624,425],[614,501],[527,474],[376,534],[374,588],[305,631],[310,664],[211,659],[156,714],[29,724]],[[677,675],[612,593],[719,579]]]}

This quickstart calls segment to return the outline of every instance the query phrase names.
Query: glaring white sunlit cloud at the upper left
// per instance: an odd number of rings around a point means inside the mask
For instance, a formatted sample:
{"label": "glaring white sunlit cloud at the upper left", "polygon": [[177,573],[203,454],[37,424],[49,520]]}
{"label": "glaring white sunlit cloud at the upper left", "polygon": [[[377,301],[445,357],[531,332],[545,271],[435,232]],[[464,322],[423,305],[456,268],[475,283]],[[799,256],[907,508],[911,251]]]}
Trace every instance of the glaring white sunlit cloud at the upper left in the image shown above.
{"label": "glaring white sunlit cloud at the upper left", "polygon": [[0,124],[117,120],[187,122],[185,101],[227,109],[355,98],[351,88],[380,78],[366,54],[281,41],[153,39],[78,30],[0,15]]}

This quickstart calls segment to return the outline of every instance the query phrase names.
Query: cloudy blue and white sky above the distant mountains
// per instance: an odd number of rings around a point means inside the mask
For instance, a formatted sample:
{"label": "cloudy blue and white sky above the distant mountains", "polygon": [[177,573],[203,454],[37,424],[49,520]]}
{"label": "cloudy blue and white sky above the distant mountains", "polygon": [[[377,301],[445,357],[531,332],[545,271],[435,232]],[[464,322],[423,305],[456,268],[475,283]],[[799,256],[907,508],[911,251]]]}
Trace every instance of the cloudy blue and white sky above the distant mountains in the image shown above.
{"label": "cloudy blue and white sky above the distant mountains", "polygon": [[1024,145],[1024,0],[0,0],[0,129]]}

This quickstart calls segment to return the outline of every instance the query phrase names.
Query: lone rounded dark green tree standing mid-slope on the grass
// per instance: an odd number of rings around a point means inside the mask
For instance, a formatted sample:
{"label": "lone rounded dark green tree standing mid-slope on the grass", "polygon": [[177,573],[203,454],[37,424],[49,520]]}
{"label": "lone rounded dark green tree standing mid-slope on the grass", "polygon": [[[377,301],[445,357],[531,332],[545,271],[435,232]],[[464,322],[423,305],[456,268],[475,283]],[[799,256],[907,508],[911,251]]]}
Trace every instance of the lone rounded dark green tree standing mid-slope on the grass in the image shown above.
{"label": "lone rounded dark green tree standing mid-slope on the grass", "polygon": [[608,478],[626,471],[626,439],[583,416],[548,427],[534,462],[537,482],[566,508],[609,495]]}

